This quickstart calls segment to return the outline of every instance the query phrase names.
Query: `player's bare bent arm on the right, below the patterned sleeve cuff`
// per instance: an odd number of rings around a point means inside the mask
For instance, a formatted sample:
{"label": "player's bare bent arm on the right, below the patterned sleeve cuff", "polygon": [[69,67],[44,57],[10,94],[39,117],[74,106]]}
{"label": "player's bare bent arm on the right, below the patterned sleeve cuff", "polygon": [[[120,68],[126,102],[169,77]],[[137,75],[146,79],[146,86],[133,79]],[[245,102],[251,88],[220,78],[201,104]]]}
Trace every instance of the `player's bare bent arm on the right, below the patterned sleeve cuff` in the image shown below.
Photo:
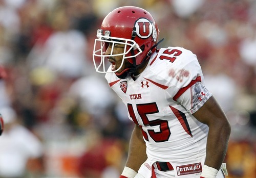
{"label": "player's bare bent arm on the right, below the patterned sleeve cuff", "polygon": [[215,168],[218,172],[226,155],[231,130],[227,117],[214,96],[211,96],[193,115],[209,126],[205,169],[211,171],[211,168]]}

